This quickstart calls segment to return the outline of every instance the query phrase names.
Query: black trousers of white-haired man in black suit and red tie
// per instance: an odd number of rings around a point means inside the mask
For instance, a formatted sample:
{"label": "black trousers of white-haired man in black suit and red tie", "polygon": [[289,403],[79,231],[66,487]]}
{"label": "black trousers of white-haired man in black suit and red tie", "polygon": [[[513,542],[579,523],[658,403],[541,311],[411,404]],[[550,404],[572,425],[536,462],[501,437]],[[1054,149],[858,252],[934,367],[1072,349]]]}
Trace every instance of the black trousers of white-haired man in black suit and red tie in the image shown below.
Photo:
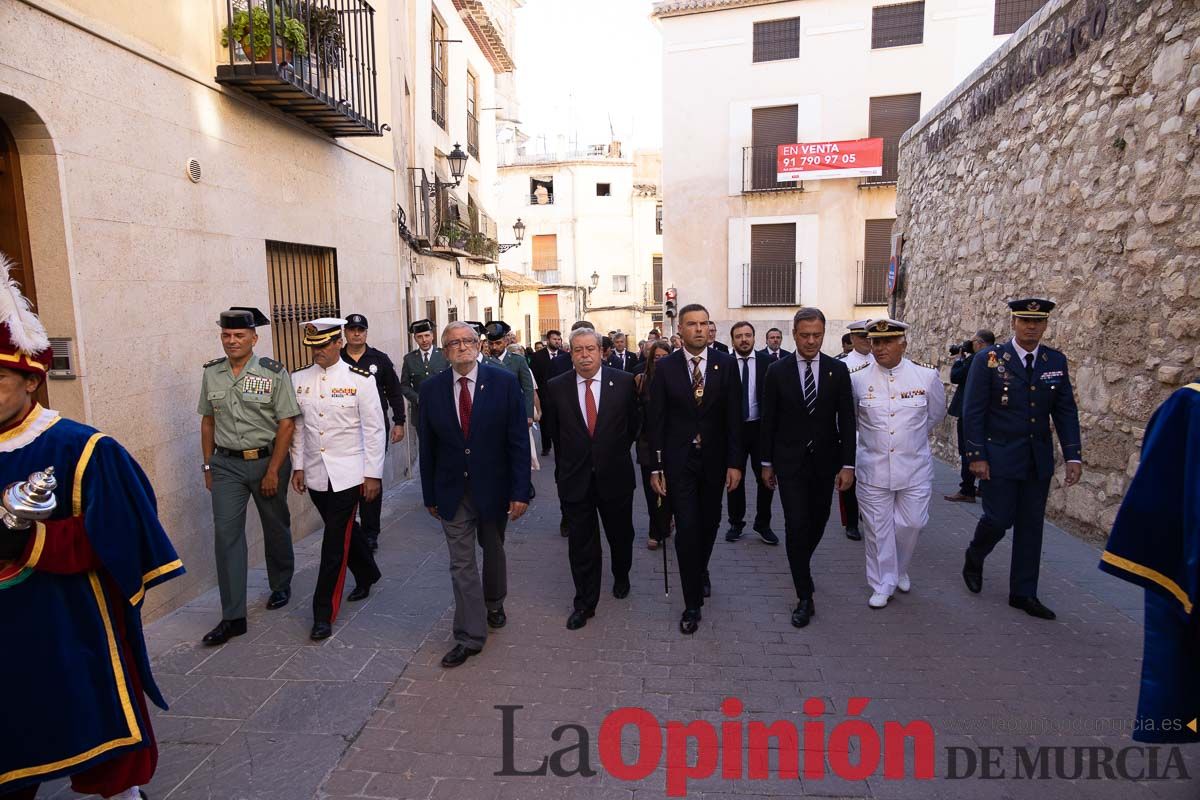
{"label": "black trousers of white-haired man in black suit and red tie", "polygon": [[564,500],[566,513],[566,552],[575,581],[575,610],[595,610],[600,602],[600,575],[604,572],[604,548],[600,546],[600,524],[608,540],[614,583],[628,582],[634,566],[634,493],[619,499],[600,499],[595,475],[584,500]]}

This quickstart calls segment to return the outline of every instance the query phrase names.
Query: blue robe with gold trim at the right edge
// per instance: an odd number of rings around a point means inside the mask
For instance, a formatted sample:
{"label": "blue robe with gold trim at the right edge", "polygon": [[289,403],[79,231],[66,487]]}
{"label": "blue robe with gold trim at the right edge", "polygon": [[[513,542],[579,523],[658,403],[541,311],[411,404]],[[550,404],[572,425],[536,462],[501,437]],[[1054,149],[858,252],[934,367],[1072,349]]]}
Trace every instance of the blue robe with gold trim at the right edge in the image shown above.
{"label": "blue robe with gold trim at the right edge", "polygon": [[1134,740],[1200,742],[1200,383],[1150,419],[1100,569],[1146,588]]}

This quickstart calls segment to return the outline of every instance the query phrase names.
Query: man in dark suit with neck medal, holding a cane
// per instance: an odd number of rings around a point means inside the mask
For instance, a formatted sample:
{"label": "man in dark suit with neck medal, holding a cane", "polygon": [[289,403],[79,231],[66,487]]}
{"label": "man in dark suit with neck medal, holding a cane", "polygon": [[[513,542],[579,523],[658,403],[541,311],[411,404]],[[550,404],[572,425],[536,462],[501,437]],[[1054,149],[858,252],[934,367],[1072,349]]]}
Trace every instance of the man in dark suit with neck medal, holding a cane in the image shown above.
{"label": "man in dark suit with neck medal, holding a cane", "polygon": [[737,362],[708,347],[703,306],[684,306],[678,319],[683,349],[654,367],[647,435],[658,461],[650,486],[662,497],[670,492],[674,509],[685,606],[679,631],[695,633],[712,593],[708,559],[721,525],[721,494],[742,481],[745,451]]}

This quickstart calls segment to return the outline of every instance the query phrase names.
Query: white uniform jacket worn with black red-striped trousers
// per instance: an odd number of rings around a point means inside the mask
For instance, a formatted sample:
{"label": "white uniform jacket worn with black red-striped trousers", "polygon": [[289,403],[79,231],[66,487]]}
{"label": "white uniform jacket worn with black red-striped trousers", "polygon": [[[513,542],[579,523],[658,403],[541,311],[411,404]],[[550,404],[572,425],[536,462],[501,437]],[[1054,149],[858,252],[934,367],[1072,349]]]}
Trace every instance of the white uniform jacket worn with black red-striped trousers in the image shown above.
{"label": "white uniform jacket worn with black red-striped trousers", "polygon": [[310,489],[341,492],[383,477],[384,416],[374,378],[338,360],[292,373],[300,419],[292,437],[292,469]]}

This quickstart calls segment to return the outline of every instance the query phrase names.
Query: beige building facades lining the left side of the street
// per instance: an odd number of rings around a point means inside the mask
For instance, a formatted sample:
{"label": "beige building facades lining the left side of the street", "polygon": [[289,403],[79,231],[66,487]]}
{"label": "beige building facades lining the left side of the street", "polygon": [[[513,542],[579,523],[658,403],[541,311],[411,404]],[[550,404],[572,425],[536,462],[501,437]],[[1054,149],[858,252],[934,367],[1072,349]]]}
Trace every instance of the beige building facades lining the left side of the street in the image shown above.
{"label": "beige building facades lining the left side of the street", "polygon": [[[121,441],[155,487],[188,572],[150,593],[150,614],[215,583],[196,409],[202,365],[222,354],[221,309],[262,308],[274,324],[257,351],[302,366],[296,335],[312,317],[366,314],[371,343],[398,362],[425,299],[438,300],[442,324],[448,301],[494,303],[494,279],[460,277],[494,264],[432,258],[436,242],[413,239],[409,168],[444,167],[438,154],[468,146],[472,71],[478,125],[456,193],[464,218],[468,196],[491,207],[494,126],[482,109],[496,104],[508,34],[487,14],[511,28],[520,0],[317,5],[336,5],[340,55],[289,44],[251,62],[248,36],[233,54],[222,46],[226,0],[0,0],[0,249],[70,357],[48,381],[50,407]],[[443,38],[462,40],[443,44],[440,133],[434,14]],[[264,85],[271,96],[254,94]],[[385,485],[410,475],[412,445],[390,449]],[[290,506],[295,537],[317,529],[307,498]],[[247,534],[254,563],[254,512]]]}

